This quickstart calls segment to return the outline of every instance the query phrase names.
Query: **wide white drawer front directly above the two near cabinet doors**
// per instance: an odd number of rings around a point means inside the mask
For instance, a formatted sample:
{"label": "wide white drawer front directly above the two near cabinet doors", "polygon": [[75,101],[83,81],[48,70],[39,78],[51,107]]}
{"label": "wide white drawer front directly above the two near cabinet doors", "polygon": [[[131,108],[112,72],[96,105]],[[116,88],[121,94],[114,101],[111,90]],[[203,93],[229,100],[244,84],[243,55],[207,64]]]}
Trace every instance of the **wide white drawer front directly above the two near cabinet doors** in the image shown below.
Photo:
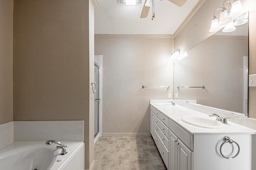
{"label": "wide white drawer front directly above the two near cabinet doors", "polygon": [[180,140],[182,140],[186,146],[188,146],[188,148],[190,148],[190,150],[193,150],[193,134],[190,134],[184,130],[171,119],[169,119],[168,127],[176,136],[178,136],[178,138],[180,138]]}

